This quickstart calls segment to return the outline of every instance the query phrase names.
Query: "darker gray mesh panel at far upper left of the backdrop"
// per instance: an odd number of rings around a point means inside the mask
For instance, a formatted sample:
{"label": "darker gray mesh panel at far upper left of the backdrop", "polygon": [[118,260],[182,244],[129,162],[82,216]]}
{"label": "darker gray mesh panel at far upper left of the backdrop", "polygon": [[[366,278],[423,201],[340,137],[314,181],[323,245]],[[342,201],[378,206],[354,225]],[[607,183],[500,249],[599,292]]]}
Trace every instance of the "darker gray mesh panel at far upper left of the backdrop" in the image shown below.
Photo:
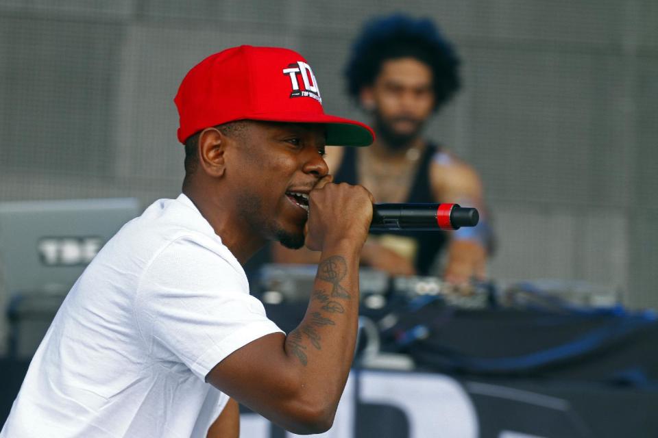
{"label": "darker gray mesh panel at far upper left of the backdrop", "polygon": [[3,171],[111,175],[121,27],[40,18],[0,27]]}

